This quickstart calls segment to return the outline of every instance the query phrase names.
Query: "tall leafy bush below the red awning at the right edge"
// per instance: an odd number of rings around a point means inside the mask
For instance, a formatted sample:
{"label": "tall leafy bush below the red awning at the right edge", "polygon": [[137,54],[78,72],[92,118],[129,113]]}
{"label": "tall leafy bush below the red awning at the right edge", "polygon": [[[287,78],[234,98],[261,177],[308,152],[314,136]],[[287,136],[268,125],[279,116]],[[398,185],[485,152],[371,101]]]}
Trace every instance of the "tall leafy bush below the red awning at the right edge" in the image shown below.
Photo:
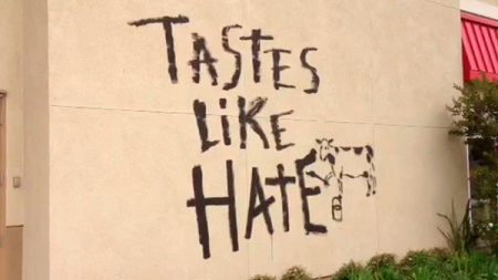
{"label": "tall leafy bush below the red awning at the right edge", "polygon": [[[490,209],[485,211],[487,220],[477,222],[498,224],[498,83],[483,74],[455,89],[461,94],[447,107],[455,120],[449,133],[469,145],[471,197]],[[478,210],[473,212],[483,218]]]}

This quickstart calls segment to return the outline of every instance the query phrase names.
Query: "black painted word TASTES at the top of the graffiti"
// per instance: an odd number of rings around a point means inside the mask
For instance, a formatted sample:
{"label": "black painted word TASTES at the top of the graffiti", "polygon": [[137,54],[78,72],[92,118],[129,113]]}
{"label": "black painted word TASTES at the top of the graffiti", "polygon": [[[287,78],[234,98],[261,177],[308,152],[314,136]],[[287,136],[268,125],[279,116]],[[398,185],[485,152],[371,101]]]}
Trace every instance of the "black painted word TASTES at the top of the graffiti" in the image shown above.
{"label": "black painted word TASTES at the top of the graffiti", "polygon": [[[142,19],[137,21],[128,22],[133,27],[144,27],[148,24],[162,24],[164,29],[164,34],[166,39],[166,52],[168,60],[168,74],[172,83],[178,83],[178,68],[177,68],[177,55],[175,52],[175,35],[173,29],[177,24],[188,23],[189,19],[185,15],[178,17],[162,17],[162,18],[151,18]],[[229,91],[239,84],[241,71],[242,71],[242,53],[239,50],[235,50],[230,46],[229,33],[234,29],[241,29],[239,24],[230,24],[221,29],[221,45],[224,51],[234,56],[235,66],[234,74],[230,81],[224,83],[222,90]],[[199,33],[191,33],[193,40],[193,58],[187,61],[193,71],[191,80],[194,83],[200,82],[200,66],[204,64],[207,68],[208,74],[211,79],[211,85],[218,85],[218,71],[216,69],[216,63],[218,59],[211,53],[207,46],[207,40]],[[272,41],[273,37],[269,34],[263,34],[261,29],[252,29],[250,34],[239,37],[241,41],[250,42],[250,52],[252,58],[252,80],[255,83],[261,82],[261,43],[263,41]],[[310,87],[304,89],[303,92],[308,94],[318,93],[320,86],[320,76],[318,74],[317,68],[311,65],[308,61],[308,55],[310,52],[317,51],[317,48],[304,48],[300,51],[299,58],[301,61],[301,68],[309,72],[310,75]],[[290,65],[286,65],[282,62],[282,56],[291,54],[291,50],[271,48],[262,51],[262,53],[268,53],[272,58],[272,81],[274,90],[280,89],[295,89],[294,85],[284,83],[281,81],[281,72],[290,69]]]}

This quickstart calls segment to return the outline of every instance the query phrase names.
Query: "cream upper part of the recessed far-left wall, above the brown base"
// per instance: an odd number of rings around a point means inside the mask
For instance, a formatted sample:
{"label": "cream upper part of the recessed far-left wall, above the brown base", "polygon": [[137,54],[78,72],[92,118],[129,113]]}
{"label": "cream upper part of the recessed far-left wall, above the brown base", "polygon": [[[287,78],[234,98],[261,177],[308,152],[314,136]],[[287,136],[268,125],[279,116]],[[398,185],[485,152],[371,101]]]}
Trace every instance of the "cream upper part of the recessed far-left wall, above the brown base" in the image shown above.
{"label": "cream upper part of the recessed far-left wall, above the brown base", "polygon": [[23,188],[13,188],[12,177],[22,176],[22,1],[0,2],[0,89],[8,92],[6,98],[7,155],[4,174],[8,226],[23,224]]}

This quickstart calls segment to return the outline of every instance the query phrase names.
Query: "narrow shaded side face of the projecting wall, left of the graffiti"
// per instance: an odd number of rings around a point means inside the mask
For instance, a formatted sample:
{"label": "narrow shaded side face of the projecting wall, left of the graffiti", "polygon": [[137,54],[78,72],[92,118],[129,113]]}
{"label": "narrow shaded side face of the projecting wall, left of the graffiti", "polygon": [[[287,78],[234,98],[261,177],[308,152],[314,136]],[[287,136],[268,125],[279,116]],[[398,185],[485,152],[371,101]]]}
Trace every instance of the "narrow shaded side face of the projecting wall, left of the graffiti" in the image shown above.
{"label": "narrow shaded side face of the projecting wall, left of the graffiti", "polygon": [[24,280],[49,279],[48,3],[23,0]]}

